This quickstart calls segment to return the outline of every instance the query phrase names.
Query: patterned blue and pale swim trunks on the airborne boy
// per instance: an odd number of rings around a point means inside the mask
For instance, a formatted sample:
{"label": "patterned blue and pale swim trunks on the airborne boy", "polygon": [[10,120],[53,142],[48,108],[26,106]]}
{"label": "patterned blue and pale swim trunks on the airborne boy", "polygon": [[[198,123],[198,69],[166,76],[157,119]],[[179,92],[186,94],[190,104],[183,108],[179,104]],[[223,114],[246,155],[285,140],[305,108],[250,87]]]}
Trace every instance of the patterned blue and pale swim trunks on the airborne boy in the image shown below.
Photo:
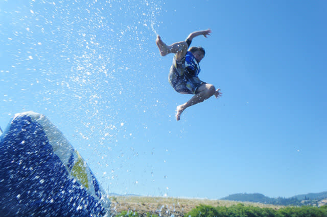
{"label": "patterned blue and pale swim trunks on the airborne boy", "polygon": [[170,67],[168,80],[175,91],[185,94],[196,94],[197,89],[204,83],[198,77],[187,76],[185,58],[178,62],[175,56]]}

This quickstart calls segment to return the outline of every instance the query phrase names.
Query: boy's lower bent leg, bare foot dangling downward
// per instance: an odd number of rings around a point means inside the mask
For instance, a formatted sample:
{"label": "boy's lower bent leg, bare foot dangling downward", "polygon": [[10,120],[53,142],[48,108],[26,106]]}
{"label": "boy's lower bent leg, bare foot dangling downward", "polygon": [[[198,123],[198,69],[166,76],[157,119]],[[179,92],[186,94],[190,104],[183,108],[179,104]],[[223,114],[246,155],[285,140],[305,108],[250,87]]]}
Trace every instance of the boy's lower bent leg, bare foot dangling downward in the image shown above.
{"label": "boy's lower bent leg, bare foot dangling downward", "polygon": [[195,104],[198,104],[200,102],[203,102],[204,100],[210,98],[212,95],[216,94],[219,95],[219,89],[215,89],[215,86],[210,85],[210,84],[202,84],[198,90],[197,94],[194,95],[189,101],[185,102],[184,104],[178,105],[176,108],[176,119],[177,121],[180,120],[180,115],[182,112]]}

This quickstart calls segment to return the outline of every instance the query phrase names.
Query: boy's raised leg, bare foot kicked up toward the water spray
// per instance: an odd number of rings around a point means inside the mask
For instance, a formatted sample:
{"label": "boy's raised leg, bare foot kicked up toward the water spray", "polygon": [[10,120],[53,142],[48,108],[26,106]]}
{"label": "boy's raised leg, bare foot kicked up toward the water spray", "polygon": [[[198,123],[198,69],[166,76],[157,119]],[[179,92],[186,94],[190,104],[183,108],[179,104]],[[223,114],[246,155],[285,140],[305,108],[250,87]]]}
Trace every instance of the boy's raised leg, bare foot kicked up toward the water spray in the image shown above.
{"label": "boy's raised leg, bare foot kicked up toward the water spray", "polygon": [[160,38],[157,36],[156,44],[160,50],[161,56],[166,56],[168,53],[176,53],[176,60],[181,61],[182,58],[185,56],[186,52],[188,51],[188,44],[185,41],[176,42],[171,45],[165,44]]}

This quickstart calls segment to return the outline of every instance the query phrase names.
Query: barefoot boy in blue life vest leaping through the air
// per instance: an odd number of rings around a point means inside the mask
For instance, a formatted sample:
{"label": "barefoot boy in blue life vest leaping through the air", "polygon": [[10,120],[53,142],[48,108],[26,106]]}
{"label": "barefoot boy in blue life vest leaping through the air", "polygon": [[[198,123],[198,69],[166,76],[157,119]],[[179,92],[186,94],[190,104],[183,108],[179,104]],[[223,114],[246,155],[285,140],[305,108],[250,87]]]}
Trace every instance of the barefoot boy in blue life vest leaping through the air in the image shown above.
{"label": "barefoot boy in blue life vest leaping through the air", "polygon": [[175,53],[173,65],[170,68],[169,83],[178,93],[195,94],[189,101],[178,105],[176,108],[176,119],[180,120],[182,112],[192,105],[203,102],[212,95],[216,98],[221,96],[217,89],[199,79],[199,63],[204,58],[205,51],[202,47],[190,47],[194,37],[203,35],[205,38],[210,35],[211,30],[203,30],[191,33],[186,41],[176,42],[172,45],[165,44],[160,36],[157,36],[156,44],[161,56],[168,53]]}

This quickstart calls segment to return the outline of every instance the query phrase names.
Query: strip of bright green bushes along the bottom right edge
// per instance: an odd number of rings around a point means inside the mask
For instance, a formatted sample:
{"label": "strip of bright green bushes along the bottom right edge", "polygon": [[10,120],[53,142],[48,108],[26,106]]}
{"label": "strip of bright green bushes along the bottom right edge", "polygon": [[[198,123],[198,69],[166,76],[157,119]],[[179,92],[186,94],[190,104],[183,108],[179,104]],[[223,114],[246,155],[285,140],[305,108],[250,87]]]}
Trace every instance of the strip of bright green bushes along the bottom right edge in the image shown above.
{"label": "strip of bright green bushes along the bottom right edge", "polygon": [[243,204],[224,206],[200,205],[186,213],[189,217],[327,217],[327,205],[322,207],[301,206],[280,209],[244,206]]}

